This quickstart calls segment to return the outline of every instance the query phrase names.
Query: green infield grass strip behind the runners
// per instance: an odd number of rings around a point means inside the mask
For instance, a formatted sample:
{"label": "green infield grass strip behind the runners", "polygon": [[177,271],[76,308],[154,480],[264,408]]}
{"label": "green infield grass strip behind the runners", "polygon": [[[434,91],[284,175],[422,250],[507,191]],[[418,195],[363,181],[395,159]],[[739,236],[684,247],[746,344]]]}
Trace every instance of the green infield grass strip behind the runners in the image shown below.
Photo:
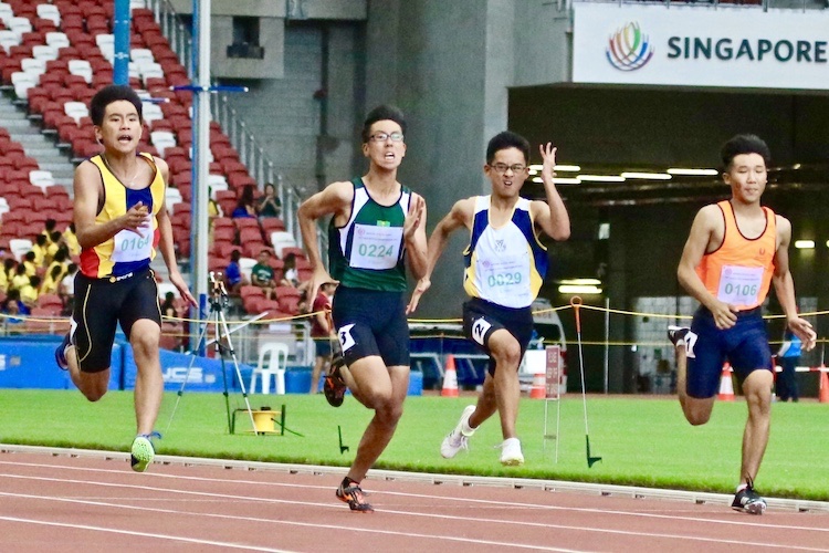
{"label": "green infield grass strip behind the runners", "polygon": [[[228,431],[221,394],[185,393],[170,424],[176,394],[164,399],[157,429],[164,455],[243,459],[326,466],[350,465],[372,413],[346,396],[339,408],[322,395],[251,396],[254,409],[285,407],[286,427],[302,436],[253,436],[250,419],[237,417]],[[457,424],[472,396],[412,396],[397,434],[376,468],[453,474],[541,478],[626,486],[732,493],[739,473],[745,403],[721,401],[712,420],[692,427],[675,397],[588,396],[591,455],[602,460],[587,467],[581,397],[560,404],[557,440],[544,439],[545,401],[522,399],[518,434],[526,462],[502,467],[496,417],[470,439],[469,451],[455,459],[439,453],[441,440]],[[230,408],[242,408],[241,395]],[[547,432],[555,434],[558,405],[547,406]],[[169,426],[168,426],[169,425]],[[338,427],[347,451],[340,452]],[[279,428],[279,425],[276,426]],[[766,497],[829,500],[829,405],[816,401],[775,404],[772,437],[757,490]],[[0,389],[0,442],[127,451],[135,431],[133,394],[111,392],[91,404],[76,390]],[[558,444],[558,462],[555,459]]]}

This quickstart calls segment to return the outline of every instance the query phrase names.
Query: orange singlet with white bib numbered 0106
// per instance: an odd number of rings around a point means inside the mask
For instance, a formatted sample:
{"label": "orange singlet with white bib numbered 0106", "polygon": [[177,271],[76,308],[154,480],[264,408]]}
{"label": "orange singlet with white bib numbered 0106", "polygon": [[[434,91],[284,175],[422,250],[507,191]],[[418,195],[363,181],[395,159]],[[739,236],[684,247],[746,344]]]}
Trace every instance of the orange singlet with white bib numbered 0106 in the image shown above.
{"label": "orange singlet with white bib numbered 0106", "polygon": [[749,239],[739,231],[731,201],[720,201],[717,207],[725,220],[723,243],[703,255],[696,274],[717,300],[748,311],[762,305],[768,294],[777,249],[775,213],[764,207],[766,228]]}

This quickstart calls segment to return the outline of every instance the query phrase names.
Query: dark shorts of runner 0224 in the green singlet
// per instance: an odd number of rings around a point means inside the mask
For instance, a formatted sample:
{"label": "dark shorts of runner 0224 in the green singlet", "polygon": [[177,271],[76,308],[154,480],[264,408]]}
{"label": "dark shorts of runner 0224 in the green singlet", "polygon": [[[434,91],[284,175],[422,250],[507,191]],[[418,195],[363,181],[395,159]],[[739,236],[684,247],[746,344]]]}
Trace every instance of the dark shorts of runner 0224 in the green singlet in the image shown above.
{"label": "dark shorts of runner 0224 in the green singlet", "polygon": [[332,319],[346,365],[379,355],[387,367],[409,366],[409,323],[403,294],[337,286]]}

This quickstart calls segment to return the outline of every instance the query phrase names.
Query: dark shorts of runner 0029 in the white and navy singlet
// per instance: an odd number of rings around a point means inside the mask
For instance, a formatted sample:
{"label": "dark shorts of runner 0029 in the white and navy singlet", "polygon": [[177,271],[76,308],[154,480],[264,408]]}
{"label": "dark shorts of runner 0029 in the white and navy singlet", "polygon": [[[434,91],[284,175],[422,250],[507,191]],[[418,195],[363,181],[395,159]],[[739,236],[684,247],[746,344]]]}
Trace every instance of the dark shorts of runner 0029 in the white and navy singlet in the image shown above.
{"label": "dark shorts of runner 0029 in the white and navy singlet", "polygon": [[513,309],[497,305],[480,298],[463,304],[463,334],[490,356],[490,375],[495,375],[495,359],[490,352],[490,336],[504,328],[518,341],[521,356],[533,338],[533,311],[531,307]]}

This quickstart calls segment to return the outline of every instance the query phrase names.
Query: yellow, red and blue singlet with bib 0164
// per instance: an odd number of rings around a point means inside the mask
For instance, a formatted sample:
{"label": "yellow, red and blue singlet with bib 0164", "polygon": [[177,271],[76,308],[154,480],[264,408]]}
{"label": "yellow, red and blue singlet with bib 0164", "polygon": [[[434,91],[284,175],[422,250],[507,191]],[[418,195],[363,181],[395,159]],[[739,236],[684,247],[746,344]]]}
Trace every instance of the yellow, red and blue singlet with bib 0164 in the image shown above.
{"label": "yellow, red and blue singlet with bib 0164", "polygon": [[[148,187],[133,190],[125,187],[113,175],[97,155],[90,159],[98,167],[104,181],[104,206],[95,216],[96,223],[104,223],[122,217],[139,201],[147,206],[150,213],[150,226],[139,229],[140,233],[122,230],[109,240],[81,251],[81,272],[92,279],[118,279],[149,267],[156,257],[159,231],[156,215],[164,206],[166,184],[156,167],[153,156],[138,154],[146,158],[154,169],[153,181]],[[139,160],[139,163],[143,163]]]}

